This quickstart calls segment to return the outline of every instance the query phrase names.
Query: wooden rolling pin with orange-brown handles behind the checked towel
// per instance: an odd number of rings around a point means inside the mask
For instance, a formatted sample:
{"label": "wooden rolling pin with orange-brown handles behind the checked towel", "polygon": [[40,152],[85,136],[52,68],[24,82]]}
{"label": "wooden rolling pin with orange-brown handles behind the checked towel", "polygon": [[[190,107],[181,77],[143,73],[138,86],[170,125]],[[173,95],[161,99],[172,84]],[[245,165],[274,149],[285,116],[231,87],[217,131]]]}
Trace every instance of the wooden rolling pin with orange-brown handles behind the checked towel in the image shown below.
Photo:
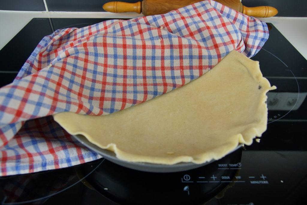
{"label": "wooden rolling pin with orange-brown handles behind the checked towel", "polygon": [[[108,2],[103,5],[103,9],[112,13],[136,12],[145,16],[165,14],[171,10],[175,10],[190,4],[200,2],[200,0],[143,0],[142,2],[126,3],[126,2]],[[275,16],[278,10],[271,6],[243,6],[240,0],[216,0],[225,6],[239,11],[248,16],[258,18],[266,18]]]}

